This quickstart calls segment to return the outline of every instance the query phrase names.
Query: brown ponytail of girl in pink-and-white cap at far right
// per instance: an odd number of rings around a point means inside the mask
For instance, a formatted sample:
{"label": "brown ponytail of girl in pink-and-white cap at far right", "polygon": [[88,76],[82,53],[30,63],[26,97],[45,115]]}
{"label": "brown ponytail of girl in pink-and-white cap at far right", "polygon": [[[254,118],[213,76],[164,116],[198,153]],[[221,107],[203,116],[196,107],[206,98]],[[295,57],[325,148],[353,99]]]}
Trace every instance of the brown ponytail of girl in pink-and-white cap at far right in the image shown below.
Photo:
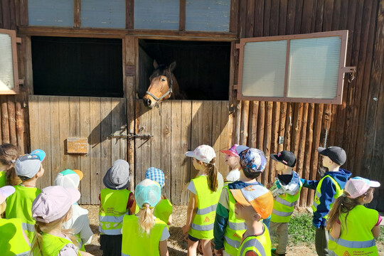
{"label": "brown ponytail of girl in pink-and-white cap at far right", "polygon": [[[348,192],[344,191],[342,196],[339,196],[335,203],[334,206],[332,206],[331,211],[329,212],[328,215],[328,220],[326,224],[326,228],[328,230],[331,230],[331,228],[337,223],[338,218],[340,217],[341,213],[346,213],[346,218],[348,217],[348,214],[353,208],[356,206],[361,205],[361,199],[364,196],[367,196],[368,193],[370,193],[374,188],[369,188],[366,193],[364,193],[361,196],[358,196],[357,198],[348,198],[349,194]],[[340,225],[342,227],[346,226],[346,218],[344,218],[343,221],[340,221]]]}

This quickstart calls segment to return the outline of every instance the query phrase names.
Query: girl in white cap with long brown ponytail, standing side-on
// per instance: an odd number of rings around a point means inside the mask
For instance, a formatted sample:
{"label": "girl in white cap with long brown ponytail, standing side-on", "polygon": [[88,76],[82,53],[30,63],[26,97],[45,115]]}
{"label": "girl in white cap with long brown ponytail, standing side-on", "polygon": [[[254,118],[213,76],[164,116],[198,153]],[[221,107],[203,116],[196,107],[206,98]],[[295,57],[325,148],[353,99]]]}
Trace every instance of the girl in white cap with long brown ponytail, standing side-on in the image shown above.
{"label": "girl in white cap with long brown ponytail, standing side-on", "polygon": [[215,210],[223,188],[223,176],[215,166],[215,150],[208,145],[198,146],[186,152],[192,157],[193,167],[198,171],[196,178],[189,183],[190,191],[186,225],[183,233],[188,233],[188,255],[196,255],[198,241],[204,255],[212,255],[210,240],[213,238]]}

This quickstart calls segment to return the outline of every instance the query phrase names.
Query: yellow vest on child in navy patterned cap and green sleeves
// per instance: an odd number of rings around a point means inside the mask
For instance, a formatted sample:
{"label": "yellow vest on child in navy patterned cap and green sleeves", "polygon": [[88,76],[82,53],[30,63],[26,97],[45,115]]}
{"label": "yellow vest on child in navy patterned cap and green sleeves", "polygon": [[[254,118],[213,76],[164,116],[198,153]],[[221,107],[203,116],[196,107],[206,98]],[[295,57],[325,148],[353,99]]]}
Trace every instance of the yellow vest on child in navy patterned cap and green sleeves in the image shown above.
{"label": "yellow vest on child in navy patterned cap and green sleeves", "polygon": [[242,234],[245,233],[247,225],[245,225],[244,220],[240,220],[235,216],[235,198],[233,198],[232,193],[230,193],[228,186],[225,186],[223,190],[226,190],[228,193],[228,224],[225,227],[224,233],[224,250],[228,252],[229,255],[237,255],[238,248],[240,247]]}

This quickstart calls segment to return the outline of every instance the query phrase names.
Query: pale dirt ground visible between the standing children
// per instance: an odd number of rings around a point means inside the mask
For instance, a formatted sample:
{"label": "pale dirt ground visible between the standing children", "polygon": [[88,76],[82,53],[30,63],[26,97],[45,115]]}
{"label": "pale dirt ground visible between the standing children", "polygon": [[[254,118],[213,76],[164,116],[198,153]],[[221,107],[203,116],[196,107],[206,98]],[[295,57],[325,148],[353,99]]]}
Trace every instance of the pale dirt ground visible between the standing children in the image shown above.
{"label": "pale dirt ground visible between the standing children", "polygon": [[[101,256],[102,251],[99,250],[99,206],[82,206],[89,210],[88,217],[90,218],[90,225],[92,231],[95,235],[92,238],[92,244],[85,246],[87,252],[92,253],[95,256]],[[181,228],[186,221],[186,208],[187,206],[174,206],[174,213],[172,215],[174,223],[169,227],[169,233],[171,237],[168,240],[168,249],[169,255],[186,255],[187,252],[187,242],[184,240],[184,235],[181,232]],[[381,252],[384,252],[384,245],[378,243],[379,255]],[[315,256],[316,250],[314,245],[297,245],[295,247],[290,247],[287,250],[287,256],[297,256],[297,255],[306,255],[306,256]],[[384,254],[383,254],[384,255]]]}

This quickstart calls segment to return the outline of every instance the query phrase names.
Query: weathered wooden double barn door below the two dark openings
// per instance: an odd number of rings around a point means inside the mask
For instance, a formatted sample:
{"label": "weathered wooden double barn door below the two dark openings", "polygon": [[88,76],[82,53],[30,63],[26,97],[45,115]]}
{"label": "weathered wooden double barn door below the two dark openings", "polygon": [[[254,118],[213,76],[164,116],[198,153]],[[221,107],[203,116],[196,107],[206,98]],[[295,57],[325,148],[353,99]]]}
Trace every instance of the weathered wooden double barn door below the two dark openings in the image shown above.
{"label": "weathered wooden double barn door below the two dark openings", "polygon": [[[102,178],[113,161],[127,159],[127,115],[134,115],[134,184],[144,179],[151,166],[166,174],[164,192],[174,204],[188,201],[186,186],[196,171],[188,150],[200,144],[213,146],[217,166],[223,176],[228,172],[221,149],[230,146],[228,101],[169,100],[149,110],[135,100],[127,110],[125,98],[29,96],[31,149],[46,151],[44,176],[38,187],[51,186],[65,169],[80,169],[80,203],[99,203]],[[132,117],[132,116],[131,116]],[[111,136],[112,135],[112,136]],[[87,139],[87,154],[68,153],[68,139]]]}

